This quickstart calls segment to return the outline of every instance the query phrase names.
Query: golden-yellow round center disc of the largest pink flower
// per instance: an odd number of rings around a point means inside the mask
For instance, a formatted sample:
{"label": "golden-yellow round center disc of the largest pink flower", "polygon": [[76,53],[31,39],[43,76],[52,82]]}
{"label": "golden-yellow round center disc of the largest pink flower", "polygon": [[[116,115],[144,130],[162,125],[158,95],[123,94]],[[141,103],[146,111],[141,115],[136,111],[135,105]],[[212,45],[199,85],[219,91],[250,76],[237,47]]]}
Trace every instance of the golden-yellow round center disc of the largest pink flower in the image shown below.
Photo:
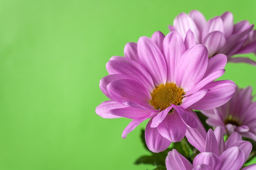
{"label": "golden-yellow round center disc of the largest pink flower", "polygon": [[164,110],[171,106],[171,104],[180,105],[184,98],[182,95],[183,89],[178,88],[175,83],[166,83],[156,86],[151,94],[150,104],[155,109]]}

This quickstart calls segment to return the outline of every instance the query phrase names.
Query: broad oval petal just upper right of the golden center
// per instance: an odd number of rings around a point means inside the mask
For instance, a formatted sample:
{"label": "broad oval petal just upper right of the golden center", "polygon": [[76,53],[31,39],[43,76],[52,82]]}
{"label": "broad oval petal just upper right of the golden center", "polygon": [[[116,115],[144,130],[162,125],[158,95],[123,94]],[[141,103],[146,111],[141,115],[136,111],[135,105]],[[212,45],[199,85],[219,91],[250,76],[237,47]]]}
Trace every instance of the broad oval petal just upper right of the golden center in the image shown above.
{"label": "broad oval petal just upper right of the golden center", "polygon": [[191,90],[202,79],[208,64],[207,48],[201,44],[187,50],[180,58],[175,71],[175,82],[184,92]]}

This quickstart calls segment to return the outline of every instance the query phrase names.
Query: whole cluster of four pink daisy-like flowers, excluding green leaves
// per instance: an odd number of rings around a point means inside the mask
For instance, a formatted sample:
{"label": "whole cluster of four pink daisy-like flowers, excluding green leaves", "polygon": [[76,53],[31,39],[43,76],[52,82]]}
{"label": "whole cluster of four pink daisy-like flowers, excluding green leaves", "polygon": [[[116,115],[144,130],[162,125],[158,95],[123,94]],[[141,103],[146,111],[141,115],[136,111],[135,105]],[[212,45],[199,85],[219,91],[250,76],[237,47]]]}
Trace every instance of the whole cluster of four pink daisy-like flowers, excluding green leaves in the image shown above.
{"label": "whole cluster of four pink daisy-like flowers, excluding green leaves", "polygon": [[[191,11],[179,14],[169,29],[167,35],[157,31],[129,42],[124,57],[110,58],[109,75],[99,84],[110,100],[99,104],[96,113],[132,119],[123,138],[149,119],[145,140],[152,152],[162,152],[184,137],[200,151],[191,164],[173,149],[166,155],[167,170],[240,170],[252,150],[242,136],[256,140],[256,102],[251,87],[240,89],[230,80],[216,79],[227,62],[256,65],[233,56],[256,53],[253,25],[233,24],[230,12],[206,21],[202,13]],[[206,132],[194,110],[201,110],[215,130]],[[256,165],[243,170],[253,168]]]}

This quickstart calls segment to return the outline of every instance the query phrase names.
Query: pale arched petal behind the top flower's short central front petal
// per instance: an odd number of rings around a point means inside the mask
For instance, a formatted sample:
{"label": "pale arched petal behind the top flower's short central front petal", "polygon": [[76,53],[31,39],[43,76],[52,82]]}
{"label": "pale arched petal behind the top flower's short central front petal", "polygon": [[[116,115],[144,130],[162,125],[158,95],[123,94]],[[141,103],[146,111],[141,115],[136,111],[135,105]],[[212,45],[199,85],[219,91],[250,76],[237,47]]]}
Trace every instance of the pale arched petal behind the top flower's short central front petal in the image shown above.
{"label": "pale arched petal behind the top flower's short central front petal", "polygon": [[209,20],[202,31],[202,42],[204,42],[204,38],[213,31],[220,31],[225,33],[225,27],[222,19],[219,16],[216,16]]}

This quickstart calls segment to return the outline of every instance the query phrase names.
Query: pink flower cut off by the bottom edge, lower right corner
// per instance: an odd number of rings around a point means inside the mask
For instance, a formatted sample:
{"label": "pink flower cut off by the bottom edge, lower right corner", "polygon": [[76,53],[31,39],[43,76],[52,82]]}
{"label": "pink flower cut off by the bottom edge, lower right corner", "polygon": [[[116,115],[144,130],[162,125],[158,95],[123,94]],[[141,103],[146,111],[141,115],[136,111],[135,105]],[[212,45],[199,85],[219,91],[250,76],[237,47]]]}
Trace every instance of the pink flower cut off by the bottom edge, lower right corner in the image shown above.
{"label": "pink flower cut off by the bottom edge, lower right corner", "polygon": [[[194,141],[197,141],[195,138]],[[214,132],[209,129],[204,143],[198,142],[195,147],[202,149],[193,160],[193,165],[177,150],[168,152],[166,157],[167,170],[240,170],[247,161],[252,144],[243,141],[241,135],[234,132],[226,142],[220,127]],[[255,170],[256,164],[247,166],[242,170]]]}

